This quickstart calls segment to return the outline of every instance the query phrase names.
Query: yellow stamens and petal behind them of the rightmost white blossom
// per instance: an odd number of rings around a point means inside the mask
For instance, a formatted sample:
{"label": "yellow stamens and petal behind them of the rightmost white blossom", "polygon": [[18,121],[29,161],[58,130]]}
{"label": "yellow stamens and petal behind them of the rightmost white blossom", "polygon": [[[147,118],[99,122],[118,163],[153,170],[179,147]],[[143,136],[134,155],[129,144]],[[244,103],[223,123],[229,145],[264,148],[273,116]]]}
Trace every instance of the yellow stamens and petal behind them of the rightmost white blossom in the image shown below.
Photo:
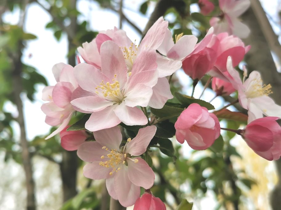
{"label": "yellow stamens and petal behind them of the rightmost white blossom", "polygon": [[255,79],[253,80],[250,85],[250,88],[245,91],[247,98],[256,98],[263,95],[269,95],[272,93],[271,91],[271,84],[262,85],[262,79]]}

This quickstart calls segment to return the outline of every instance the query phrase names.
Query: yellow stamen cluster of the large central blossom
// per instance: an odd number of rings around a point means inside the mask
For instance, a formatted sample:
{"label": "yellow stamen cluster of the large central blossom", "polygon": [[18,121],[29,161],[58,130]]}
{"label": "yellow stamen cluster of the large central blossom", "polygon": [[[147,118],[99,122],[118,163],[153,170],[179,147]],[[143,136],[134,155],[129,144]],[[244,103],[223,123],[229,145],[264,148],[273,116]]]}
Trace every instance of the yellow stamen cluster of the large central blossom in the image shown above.
{"label": "yellow stamen cluster of the large central blossom", "polygon": [[123,91],[120,90],[120,84],[115,80],[115,78],[116,75],[114,75],[114,78],[112,79],[112,84],[110,84],[109,82],[104,84],[104,80],[102,80],[100,86],[96,87],[96,94],[102,94],[104,98],[109,101],[122,103],[124,99]]}

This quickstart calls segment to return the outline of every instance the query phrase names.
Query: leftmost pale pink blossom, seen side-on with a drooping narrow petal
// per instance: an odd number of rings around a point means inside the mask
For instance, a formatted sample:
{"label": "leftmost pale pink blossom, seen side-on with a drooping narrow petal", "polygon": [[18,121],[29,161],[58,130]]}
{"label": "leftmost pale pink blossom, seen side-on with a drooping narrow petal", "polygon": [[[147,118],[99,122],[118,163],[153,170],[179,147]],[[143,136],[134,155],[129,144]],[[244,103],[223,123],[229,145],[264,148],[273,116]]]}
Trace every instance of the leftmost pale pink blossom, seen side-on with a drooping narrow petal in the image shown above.
{"label": "leftmost pale pink blossom, seen side-on with a drooping narrow petal", "polygon": [[44,103],[41,109],[47,115],[45,122],[48,125],[60,126],[46,139],[58,134],[67,126],[75,111],[70,103],[72,93],[78,87],[73,75],[74,68],[71,65],[55,64],[52,71],[57,84],[43,89],[42,99],[48,103]]}

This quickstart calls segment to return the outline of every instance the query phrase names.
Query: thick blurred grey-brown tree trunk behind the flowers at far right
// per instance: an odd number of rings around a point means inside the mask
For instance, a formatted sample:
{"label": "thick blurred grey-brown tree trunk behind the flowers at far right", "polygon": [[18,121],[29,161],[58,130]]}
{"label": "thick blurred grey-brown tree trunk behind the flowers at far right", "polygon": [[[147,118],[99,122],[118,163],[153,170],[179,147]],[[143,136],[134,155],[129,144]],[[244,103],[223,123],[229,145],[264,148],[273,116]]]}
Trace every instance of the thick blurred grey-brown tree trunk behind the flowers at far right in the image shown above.
{"label": "thick blurred grey-brown tree trunk behind the flowers at far right", "polygon": [[[255,11],[256,12],[256,11]],[[264,13],[264,11],[259,11]],[[256,12],[257,14],[257,12]],[[260,15],[260,14],[259,14]],[[263,83],[271,84],[273,94],[271,97],[277,104],[281,104],[280,89],[281,89],[281,75],[277,72],[274,60],[271,55],[269,43],[263,33],[263,25],[259,24],[259,21],[253,11],[250,8],[245,14],[242,15],[242,19],[251,30],[250,36],[244,40],[246,45],[251,45],[252,48],[246,54],[245,60],[248,64],[250,71],[257,70],[261,73]],[[272,30],[272,28],[271,28]],[[267,31],[268,33],[268,31]],[[274,37],[272,37],[273,39]],[[279,43],[277,43],[279,45]],[[280,209],[281,206],[281,160],[276,161],[279,182],[275,186],[271,194],[271,205],[273,210]]]}

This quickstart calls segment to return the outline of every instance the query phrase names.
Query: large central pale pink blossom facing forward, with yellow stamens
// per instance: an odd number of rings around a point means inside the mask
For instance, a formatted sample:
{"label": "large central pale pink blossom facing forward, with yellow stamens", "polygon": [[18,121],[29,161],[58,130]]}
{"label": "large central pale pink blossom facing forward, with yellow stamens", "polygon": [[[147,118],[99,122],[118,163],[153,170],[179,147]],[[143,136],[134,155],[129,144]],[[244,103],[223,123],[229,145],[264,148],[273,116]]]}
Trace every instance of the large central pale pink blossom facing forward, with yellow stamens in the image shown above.
{"label": "large central pale pink blossom facing forward, with yellow stamens", "polygon": [[118,45],[106,41],[101,45],[101,71],[90,64],[75,66],[79,86],[93,94],[74,99],[71,104],[81,112],[92,113],[85,124],[90,131],[126,125],[145,125],[148,120],[137,107],[146,107],[158,79],[156,52],[147,50],[128,72]]}

